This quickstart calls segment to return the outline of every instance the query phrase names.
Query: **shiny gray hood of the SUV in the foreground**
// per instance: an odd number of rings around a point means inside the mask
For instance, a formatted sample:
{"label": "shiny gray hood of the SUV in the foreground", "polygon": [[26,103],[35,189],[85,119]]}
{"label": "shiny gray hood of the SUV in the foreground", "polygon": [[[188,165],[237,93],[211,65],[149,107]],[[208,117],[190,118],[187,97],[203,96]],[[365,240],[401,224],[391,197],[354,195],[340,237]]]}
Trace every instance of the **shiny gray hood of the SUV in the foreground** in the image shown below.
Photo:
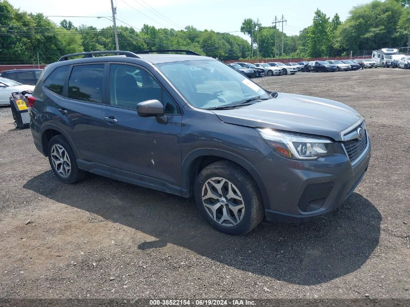
{"label": "shiny gray hood of the SUV in the foreground", "polygon": [[359,113],[341,102],[285,93],[243,108],[212,112],[229,124],[321,135],[336,141],[342,141],[343,130],[361,120]]}

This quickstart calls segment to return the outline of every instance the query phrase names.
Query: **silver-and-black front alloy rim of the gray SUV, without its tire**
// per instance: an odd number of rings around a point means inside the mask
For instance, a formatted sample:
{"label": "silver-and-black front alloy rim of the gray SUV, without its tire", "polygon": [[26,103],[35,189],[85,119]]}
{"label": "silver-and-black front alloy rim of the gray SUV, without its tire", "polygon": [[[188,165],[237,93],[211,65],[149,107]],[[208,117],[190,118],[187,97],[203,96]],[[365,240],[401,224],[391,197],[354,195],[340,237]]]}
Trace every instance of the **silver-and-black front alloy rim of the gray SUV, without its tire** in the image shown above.
{"label": "silver-and-black front alloy rim of the gray SUV, without its tire", "polygon": [[235,226],[244,217],[244,199],[238,188],[225,178],[213,177],[205,182],[202,204],[213,221],[223,226]]}

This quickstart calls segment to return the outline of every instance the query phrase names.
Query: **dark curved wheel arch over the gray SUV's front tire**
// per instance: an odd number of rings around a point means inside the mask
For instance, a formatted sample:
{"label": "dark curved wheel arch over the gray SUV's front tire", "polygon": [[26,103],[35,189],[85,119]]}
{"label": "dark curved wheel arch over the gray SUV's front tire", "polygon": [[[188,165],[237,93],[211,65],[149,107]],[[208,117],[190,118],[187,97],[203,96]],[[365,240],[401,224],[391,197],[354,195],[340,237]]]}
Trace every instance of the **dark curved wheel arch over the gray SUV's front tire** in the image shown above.
{"label": "dark curved wheel arch over the gray SUV's front tire", "polygon": [[268,203],[269,198],[262,178],[259,176],[253,165],[246,159],[231,152],[213,148],[200,148],[194,150],[185,157],[182,162],[181,195],[185,197],[193,196],[194,182],[199,172],[211,163],[221,160],[234,162],[242,167],[255,181],[256,186],[262,196],[263,206]]}

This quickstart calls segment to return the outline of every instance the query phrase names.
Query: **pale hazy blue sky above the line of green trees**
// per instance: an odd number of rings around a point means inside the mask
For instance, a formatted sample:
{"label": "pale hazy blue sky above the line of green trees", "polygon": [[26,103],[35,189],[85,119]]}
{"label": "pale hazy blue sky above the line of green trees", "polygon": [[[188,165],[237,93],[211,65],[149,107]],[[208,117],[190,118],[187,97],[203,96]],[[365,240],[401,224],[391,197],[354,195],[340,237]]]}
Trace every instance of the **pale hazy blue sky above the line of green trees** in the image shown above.
{"label": "pale hazy blue sky above the line of green trees", "polygon": [[[46,16],[110,16],[110,0],[70,0],[70,1],[33,1],[11,0],[14,7],[30,13],[43,13]],[[319,8],[327,16],[338,13],[344,20],[349,10],[369,0],[114,0],[117,18],[139,29],[145,23],[155,27],[179,30],[192,25],[199,30],[239,32],[242,21],[251,17],[259,18],[263,26],[271,26],[275,15],[285,17],[284,32],[298,34],[312,24],[314,11]],[[64,3],[64,4],[63,4]],[[148,6],[149,5],[149,6]],[[59,23],[63,17],[49,17]],[[112,25],[105,18],[70,17],[74,25],[87,24],[99,28]],[[118,21],[118,25],[125,25]],[[238,32],[235,32],[238,31]]]}

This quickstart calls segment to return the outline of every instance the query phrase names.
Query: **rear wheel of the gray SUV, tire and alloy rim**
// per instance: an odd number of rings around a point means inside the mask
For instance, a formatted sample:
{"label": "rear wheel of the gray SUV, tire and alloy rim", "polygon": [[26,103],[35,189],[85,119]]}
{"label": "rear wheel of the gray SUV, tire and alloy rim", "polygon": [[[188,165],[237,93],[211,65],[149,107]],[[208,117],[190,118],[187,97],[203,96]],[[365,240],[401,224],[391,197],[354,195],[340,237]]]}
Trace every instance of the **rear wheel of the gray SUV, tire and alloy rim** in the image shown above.
{"label": "rear wheel of the gray SUV, tire and alloy rim", "polygon": [[51,169],[61,181],[75,183],[84,178],[85,171],[78,168],[76,156],[64,136],[60,134],[52,137],[47,152]]}

